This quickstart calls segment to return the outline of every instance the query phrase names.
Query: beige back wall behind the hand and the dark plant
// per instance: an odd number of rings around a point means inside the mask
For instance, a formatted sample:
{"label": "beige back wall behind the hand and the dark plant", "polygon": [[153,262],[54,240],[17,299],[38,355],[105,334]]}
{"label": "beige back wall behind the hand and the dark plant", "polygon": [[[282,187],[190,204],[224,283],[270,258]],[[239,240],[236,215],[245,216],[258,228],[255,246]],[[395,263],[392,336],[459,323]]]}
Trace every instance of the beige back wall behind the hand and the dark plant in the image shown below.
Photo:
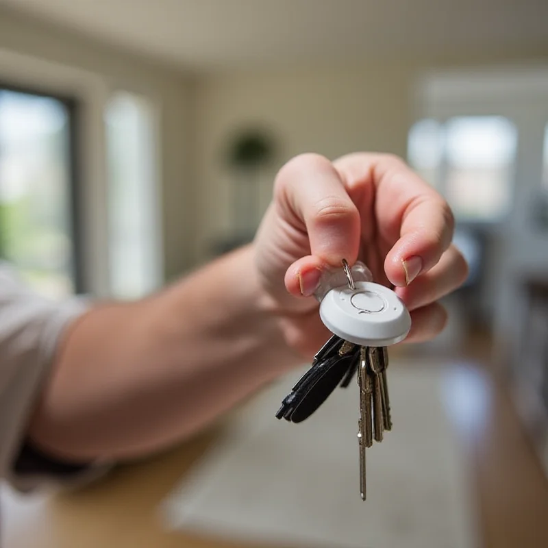
{"label": "beige back wall behind the hand and the dark plant", "polygon": [[[406,155],[414,116],[412,90],[419,75],[432,68],[522,60],[548,60],[548,50],[227,73],[201,79],[195,87],[197,258],[206,260],[212,241],[232,225],[232,175],[219,155],[234,129],[256,123],[269,128],[282,147],[278,166],[306,151],[329,158],[357,150]],[[269,201],[274,175],[275,169],[263,174],[262,210]]]}

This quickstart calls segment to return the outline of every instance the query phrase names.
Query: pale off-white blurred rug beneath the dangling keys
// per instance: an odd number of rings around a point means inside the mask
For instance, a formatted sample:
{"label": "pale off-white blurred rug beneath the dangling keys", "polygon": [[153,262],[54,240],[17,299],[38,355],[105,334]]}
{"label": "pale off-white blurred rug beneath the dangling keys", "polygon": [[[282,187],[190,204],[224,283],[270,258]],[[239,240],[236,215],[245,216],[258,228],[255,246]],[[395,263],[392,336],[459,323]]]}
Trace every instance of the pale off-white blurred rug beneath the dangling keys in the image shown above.
{"label": "pale off-white blurred rug beneath the dangling keys", "polygon": [[440,372],[390,366],[394,427],[367,452],[366,502],[358,483],[356,382],[338,388],[307,421],[278,421],[279,402],[299,375],[238,414],[166,500],[170,527],[290,547],[477,546],[466,463],[440,399]]}

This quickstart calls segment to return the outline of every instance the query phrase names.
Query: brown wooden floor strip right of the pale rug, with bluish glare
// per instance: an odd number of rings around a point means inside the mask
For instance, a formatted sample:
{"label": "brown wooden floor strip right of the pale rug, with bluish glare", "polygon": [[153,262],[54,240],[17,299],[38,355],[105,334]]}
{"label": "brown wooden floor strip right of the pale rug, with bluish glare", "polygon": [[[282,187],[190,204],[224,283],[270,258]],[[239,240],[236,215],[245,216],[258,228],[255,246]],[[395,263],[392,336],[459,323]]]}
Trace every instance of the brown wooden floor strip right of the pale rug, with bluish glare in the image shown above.
{"label": "brown wooden floor strip right of the pale rug, with bluish glare", "polygon": [[548,547],[548,479],[486,341],[456,366],[468,412],[456,417],[469,455],[485,548]]}

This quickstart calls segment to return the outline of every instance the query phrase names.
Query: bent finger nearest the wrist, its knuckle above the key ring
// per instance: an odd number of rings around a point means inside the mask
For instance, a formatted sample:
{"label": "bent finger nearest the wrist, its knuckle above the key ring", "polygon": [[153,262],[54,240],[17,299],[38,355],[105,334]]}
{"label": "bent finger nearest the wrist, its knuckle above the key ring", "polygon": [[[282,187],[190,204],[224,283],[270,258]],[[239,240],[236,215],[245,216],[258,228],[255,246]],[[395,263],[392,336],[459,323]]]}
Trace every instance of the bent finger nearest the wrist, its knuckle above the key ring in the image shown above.
{"label": "bent finger nearest the wrist, its knuckle above the key ring", "polygon": [[275,201],[284,221],[308,232],[314,264],[356,261],[360,214],[329,160],[316,154],[290,160],[277,175]]}

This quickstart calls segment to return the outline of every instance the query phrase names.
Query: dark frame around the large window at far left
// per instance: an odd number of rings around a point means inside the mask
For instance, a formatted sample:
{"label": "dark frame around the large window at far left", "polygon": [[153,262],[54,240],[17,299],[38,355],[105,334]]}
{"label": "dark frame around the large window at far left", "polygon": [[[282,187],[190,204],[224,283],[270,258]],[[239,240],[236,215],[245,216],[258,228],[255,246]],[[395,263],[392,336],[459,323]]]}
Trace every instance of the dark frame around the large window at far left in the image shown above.
{"label": "dark frame around the large window at far left", "polygon": [[[82,103],[73,95],[64,95],[58,92],[51,92],[40,88],[40,86],[26,86],[8,82],[0,79],[0,90],[23,93],[25,95],[34,95],[35,97],[45,97],[55,99],[62,103],[69,119],[69,141],[66,143],[68,148],[68,178],[69,178],[69,222],[71,229],[71,253],[73,257],[72,278],[75,293],[85,292],[86,288],[84,277],[84,230],[82,223],[82,166],[80,163],[80,135],[81,135],[81,113]],[[2,250],[0,249],[0,256]]]}

